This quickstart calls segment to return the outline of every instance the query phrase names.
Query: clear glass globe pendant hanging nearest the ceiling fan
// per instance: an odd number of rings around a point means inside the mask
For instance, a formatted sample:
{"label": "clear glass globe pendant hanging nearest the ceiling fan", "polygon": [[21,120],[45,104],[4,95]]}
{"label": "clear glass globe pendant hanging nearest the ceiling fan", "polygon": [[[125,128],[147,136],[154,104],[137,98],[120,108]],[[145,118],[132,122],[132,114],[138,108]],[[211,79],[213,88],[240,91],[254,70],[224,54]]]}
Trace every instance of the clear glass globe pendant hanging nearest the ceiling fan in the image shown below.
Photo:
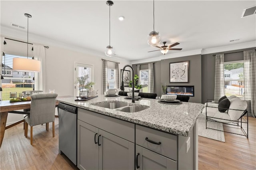
{"label": "clear glass globe pendant hanging nearest the ceiling fan", "polygon": [[148,45],[155,47],[161,42],[159,32],[155,31],[155,2],[153,0],[153,30],[148,34]]}

